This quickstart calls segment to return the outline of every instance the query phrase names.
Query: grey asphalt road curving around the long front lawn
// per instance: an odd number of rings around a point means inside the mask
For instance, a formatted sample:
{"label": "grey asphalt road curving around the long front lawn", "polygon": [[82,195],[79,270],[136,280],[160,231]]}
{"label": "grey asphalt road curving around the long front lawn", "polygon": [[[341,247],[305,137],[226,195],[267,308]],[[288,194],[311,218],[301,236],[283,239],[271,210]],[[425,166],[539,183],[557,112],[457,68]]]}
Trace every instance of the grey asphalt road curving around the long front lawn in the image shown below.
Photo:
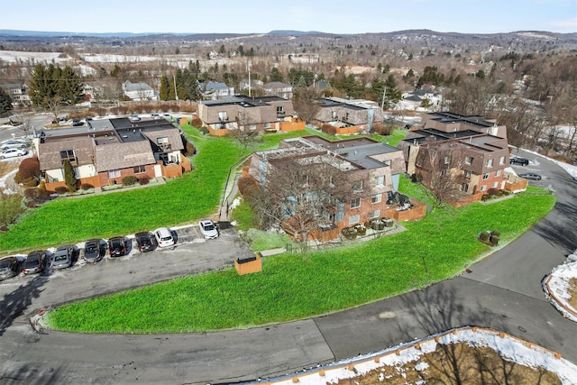
{"label": "grey asphalt road curving around the long front lawn", "polygon": [[[538,170],[545,177],[535,184],[554,188],[558,199],[554,210],[527,234],[460,277],[329,316],[194,335],[36,333],[28,317],[58,303],[51,296],[59,280],[29,280],[0,302],[5,306],[20,301],[14,308],[25,309],[0,328],[0,384],[254,380],[378,351],[461,325],[517,335],[577,362],[577,324],[545,300],[540,283],[577,249],[577,182],[552,162],[525,156],[532,163],[516,169]],[[121,263],[116,266],[124,269]],[[127,280],[132,273],[126,272]],[[102,284],[98,289],[114,288]],[[78,291],[82,293],[81,288]],[[86,289],[78,294],[85,295]]]}

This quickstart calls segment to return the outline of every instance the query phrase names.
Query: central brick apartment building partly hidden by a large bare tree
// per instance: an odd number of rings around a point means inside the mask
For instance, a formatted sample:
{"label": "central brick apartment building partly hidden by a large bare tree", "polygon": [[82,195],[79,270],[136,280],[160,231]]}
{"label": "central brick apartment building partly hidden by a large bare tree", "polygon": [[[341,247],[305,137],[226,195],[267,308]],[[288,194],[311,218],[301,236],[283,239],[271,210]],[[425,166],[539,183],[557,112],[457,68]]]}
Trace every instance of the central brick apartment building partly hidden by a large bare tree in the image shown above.
{"label": "central brick apartment building partly hidden by a large bare tree", "polygon": [[[331,236],[317,234],[319,238],[334,238],[344,227],[362,225],[372,218],[395,216],[397,210],[390,204],[389,195],[398,191],[400,175],[406,171],[402,151],[397,148],[370,138],[336,142],[318,136],[287,139],[278,149],[254,152],[248,174],[266,188],[276,183],[271,179],[275,167],[295,159],[311,172],[319,170],[316,165],[321,163],[333,167],[343,176],[338,180],[346,180],[352,189],[349,201],[335,202],[334,210],[325,213],[327,225],[322,231],[330,230]],[[282,225],[290,233],[289,215],[285,219]]]}

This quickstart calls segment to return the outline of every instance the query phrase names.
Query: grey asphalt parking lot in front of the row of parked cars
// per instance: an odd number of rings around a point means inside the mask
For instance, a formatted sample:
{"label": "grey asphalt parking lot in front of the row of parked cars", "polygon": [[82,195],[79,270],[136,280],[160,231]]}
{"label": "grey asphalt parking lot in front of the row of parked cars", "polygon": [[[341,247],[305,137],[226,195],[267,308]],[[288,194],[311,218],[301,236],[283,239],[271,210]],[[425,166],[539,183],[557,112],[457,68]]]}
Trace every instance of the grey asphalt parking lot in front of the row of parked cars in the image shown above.
{"label": "grey asphalt parking lot in front of the row of parked cars", "polygon": [[[78,261],[70,268],[47,270],[42,274],[19,274],[0,282],[0,296],[6,296],[32,283],[41,286],[42,295],[30,298],[28,311],[55,304],[97,297],[119,290],[132,289],[175,277],[220,270],[233,266],[235,258],[252,255],[228,224],[221,224],[221,234],[206,240],[197,225],[171,229],[177,237],[174,246],[139,252],[135,243],[129,252],[117,258],[106,254],[102,261],[87,263],[79,245]],[[127,239],[133,241],[130,236]],[[129,244],[132,244],[129,243]]]}

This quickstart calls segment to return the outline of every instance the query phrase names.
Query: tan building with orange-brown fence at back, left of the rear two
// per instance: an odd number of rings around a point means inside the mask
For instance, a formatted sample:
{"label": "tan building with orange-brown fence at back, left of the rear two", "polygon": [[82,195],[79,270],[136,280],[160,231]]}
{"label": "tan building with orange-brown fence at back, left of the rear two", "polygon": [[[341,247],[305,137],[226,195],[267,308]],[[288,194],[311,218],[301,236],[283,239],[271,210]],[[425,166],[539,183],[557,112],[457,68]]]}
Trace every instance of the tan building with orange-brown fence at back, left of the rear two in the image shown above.
{"label": "tan building with orange-brown fence at back, left of the rear two", "polygon": [[222,136],[242,130],[287,132],[304,130],[304,122],[293,117],[292,101],[278,96],[232,96],[198,104],[198,116],[209,133]]}

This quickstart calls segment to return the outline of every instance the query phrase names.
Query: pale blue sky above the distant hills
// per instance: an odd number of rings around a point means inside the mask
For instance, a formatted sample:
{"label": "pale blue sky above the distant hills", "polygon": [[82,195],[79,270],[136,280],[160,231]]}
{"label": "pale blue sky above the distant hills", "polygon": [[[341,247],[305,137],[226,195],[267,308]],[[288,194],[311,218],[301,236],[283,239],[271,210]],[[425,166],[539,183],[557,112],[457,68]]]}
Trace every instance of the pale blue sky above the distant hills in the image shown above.
{"label": "pale blue sky above the distant hills", "polygon": [[577,32],[577,0],[0,0],[0,29]]}

